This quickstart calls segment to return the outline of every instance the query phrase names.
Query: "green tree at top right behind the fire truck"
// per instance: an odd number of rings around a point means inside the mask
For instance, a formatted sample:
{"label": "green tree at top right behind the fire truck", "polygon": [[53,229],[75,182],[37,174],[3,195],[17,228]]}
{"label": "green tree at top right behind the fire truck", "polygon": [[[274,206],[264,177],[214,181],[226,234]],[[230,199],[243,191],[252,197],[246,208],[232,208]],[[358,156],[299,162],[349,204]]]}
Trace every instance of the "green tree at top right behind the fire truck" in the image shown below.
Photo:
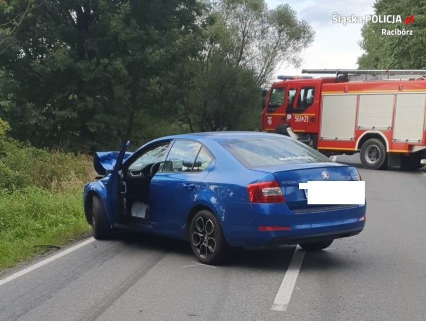
{"label": "green tree at top right behind the fire truck", "polygon": [[[360,47],[365,53],[358,57],[361,69],[423,69],[426,67],[426,1],[377,0],[376,15],[400,15],[401,23],[367,22],[362,27]],[[414,22],[404,24],[406,16],[414,15]],[[385,35],[382,29],[412,30],[401,35]]]}

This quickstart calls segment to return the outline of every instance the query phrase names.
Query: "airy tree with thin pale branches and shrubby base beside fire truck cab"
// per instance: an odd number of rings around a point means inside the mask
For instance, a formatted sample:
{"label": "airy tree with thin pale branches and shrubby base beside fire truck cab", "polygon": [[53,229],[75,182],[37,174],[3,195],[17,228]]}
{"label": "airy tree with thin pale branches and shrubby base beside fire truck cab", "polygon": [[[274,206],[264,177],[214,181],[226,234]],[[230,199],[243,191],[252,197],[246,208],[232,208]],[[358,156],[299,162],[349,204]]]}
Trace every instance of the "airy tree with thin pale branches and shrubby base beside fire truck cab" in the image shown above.
{"label": "airy tree with thin pale branches and shrubby base beside fire truck cab", "polygon": [[278,63],[299,65],[313,30],[287,4],[263,0],[212,2],[199,74],[182,106],[191,131],[258,128],[260,87]]}

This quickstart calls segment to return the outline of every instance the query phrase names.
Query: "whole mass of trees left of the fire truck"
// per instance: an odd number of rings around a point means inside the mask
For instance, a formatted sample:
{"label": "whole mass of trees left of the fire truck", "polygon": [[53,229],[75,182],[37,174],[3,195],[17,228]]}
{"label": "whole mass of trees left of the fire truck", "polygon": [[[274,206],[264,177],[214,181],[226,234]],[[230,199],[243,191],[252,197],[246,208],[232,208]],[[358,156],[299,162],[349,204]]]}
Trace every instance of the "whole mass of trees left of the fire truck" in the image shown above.
{"label": "whole mass of trees left of the fire truck", "polygon": [[259,88],[313,31],[264,0],[3,0],[0,117],[37,147],[256,129]]}

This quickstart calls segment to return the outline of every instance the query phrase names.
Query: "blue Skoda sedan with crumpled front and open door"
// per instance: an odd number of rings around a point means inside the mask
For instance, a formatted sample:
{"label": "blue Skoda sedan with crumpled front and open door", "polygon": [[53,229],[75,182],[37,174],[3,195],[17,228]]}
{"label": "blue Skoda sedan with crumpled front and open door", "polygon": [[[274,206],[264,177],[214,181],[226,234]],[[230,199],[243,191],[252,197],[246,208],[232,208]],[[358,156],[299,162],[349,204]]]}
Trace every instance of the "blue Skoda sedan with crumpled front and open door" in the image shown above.
{"label": "blue Skoda sedan with crumpled front and open door", "polygon": [[298,186],[361,180],[356,168],[287,136],[203,132],[128,145],[95,153],[101,176],[84,186],[83,206],[96,239],[117,229],[186,239],[200,262],[216,264],[230,247],[320,250],[364,228],[365,204],[308,204]]}

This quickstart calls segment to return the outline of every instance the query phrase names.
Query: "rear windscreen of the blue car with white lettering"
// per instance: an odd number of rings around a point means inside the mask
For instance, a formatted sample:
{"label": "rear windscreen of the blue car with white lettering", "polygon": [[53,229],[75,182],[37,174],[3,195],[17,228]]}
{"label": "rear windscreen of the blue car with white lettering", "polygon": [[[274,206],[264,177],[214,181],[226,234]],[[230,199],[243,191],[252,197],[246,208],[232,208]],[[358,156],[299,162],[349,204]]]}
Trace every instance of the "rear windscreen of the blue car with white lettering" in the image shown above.
{"label": "rear windscreen of the blue car with white lettering", "polygon": [[319,151],[286,137],[237,138],[220,144],[248,168],[330,161]]}

